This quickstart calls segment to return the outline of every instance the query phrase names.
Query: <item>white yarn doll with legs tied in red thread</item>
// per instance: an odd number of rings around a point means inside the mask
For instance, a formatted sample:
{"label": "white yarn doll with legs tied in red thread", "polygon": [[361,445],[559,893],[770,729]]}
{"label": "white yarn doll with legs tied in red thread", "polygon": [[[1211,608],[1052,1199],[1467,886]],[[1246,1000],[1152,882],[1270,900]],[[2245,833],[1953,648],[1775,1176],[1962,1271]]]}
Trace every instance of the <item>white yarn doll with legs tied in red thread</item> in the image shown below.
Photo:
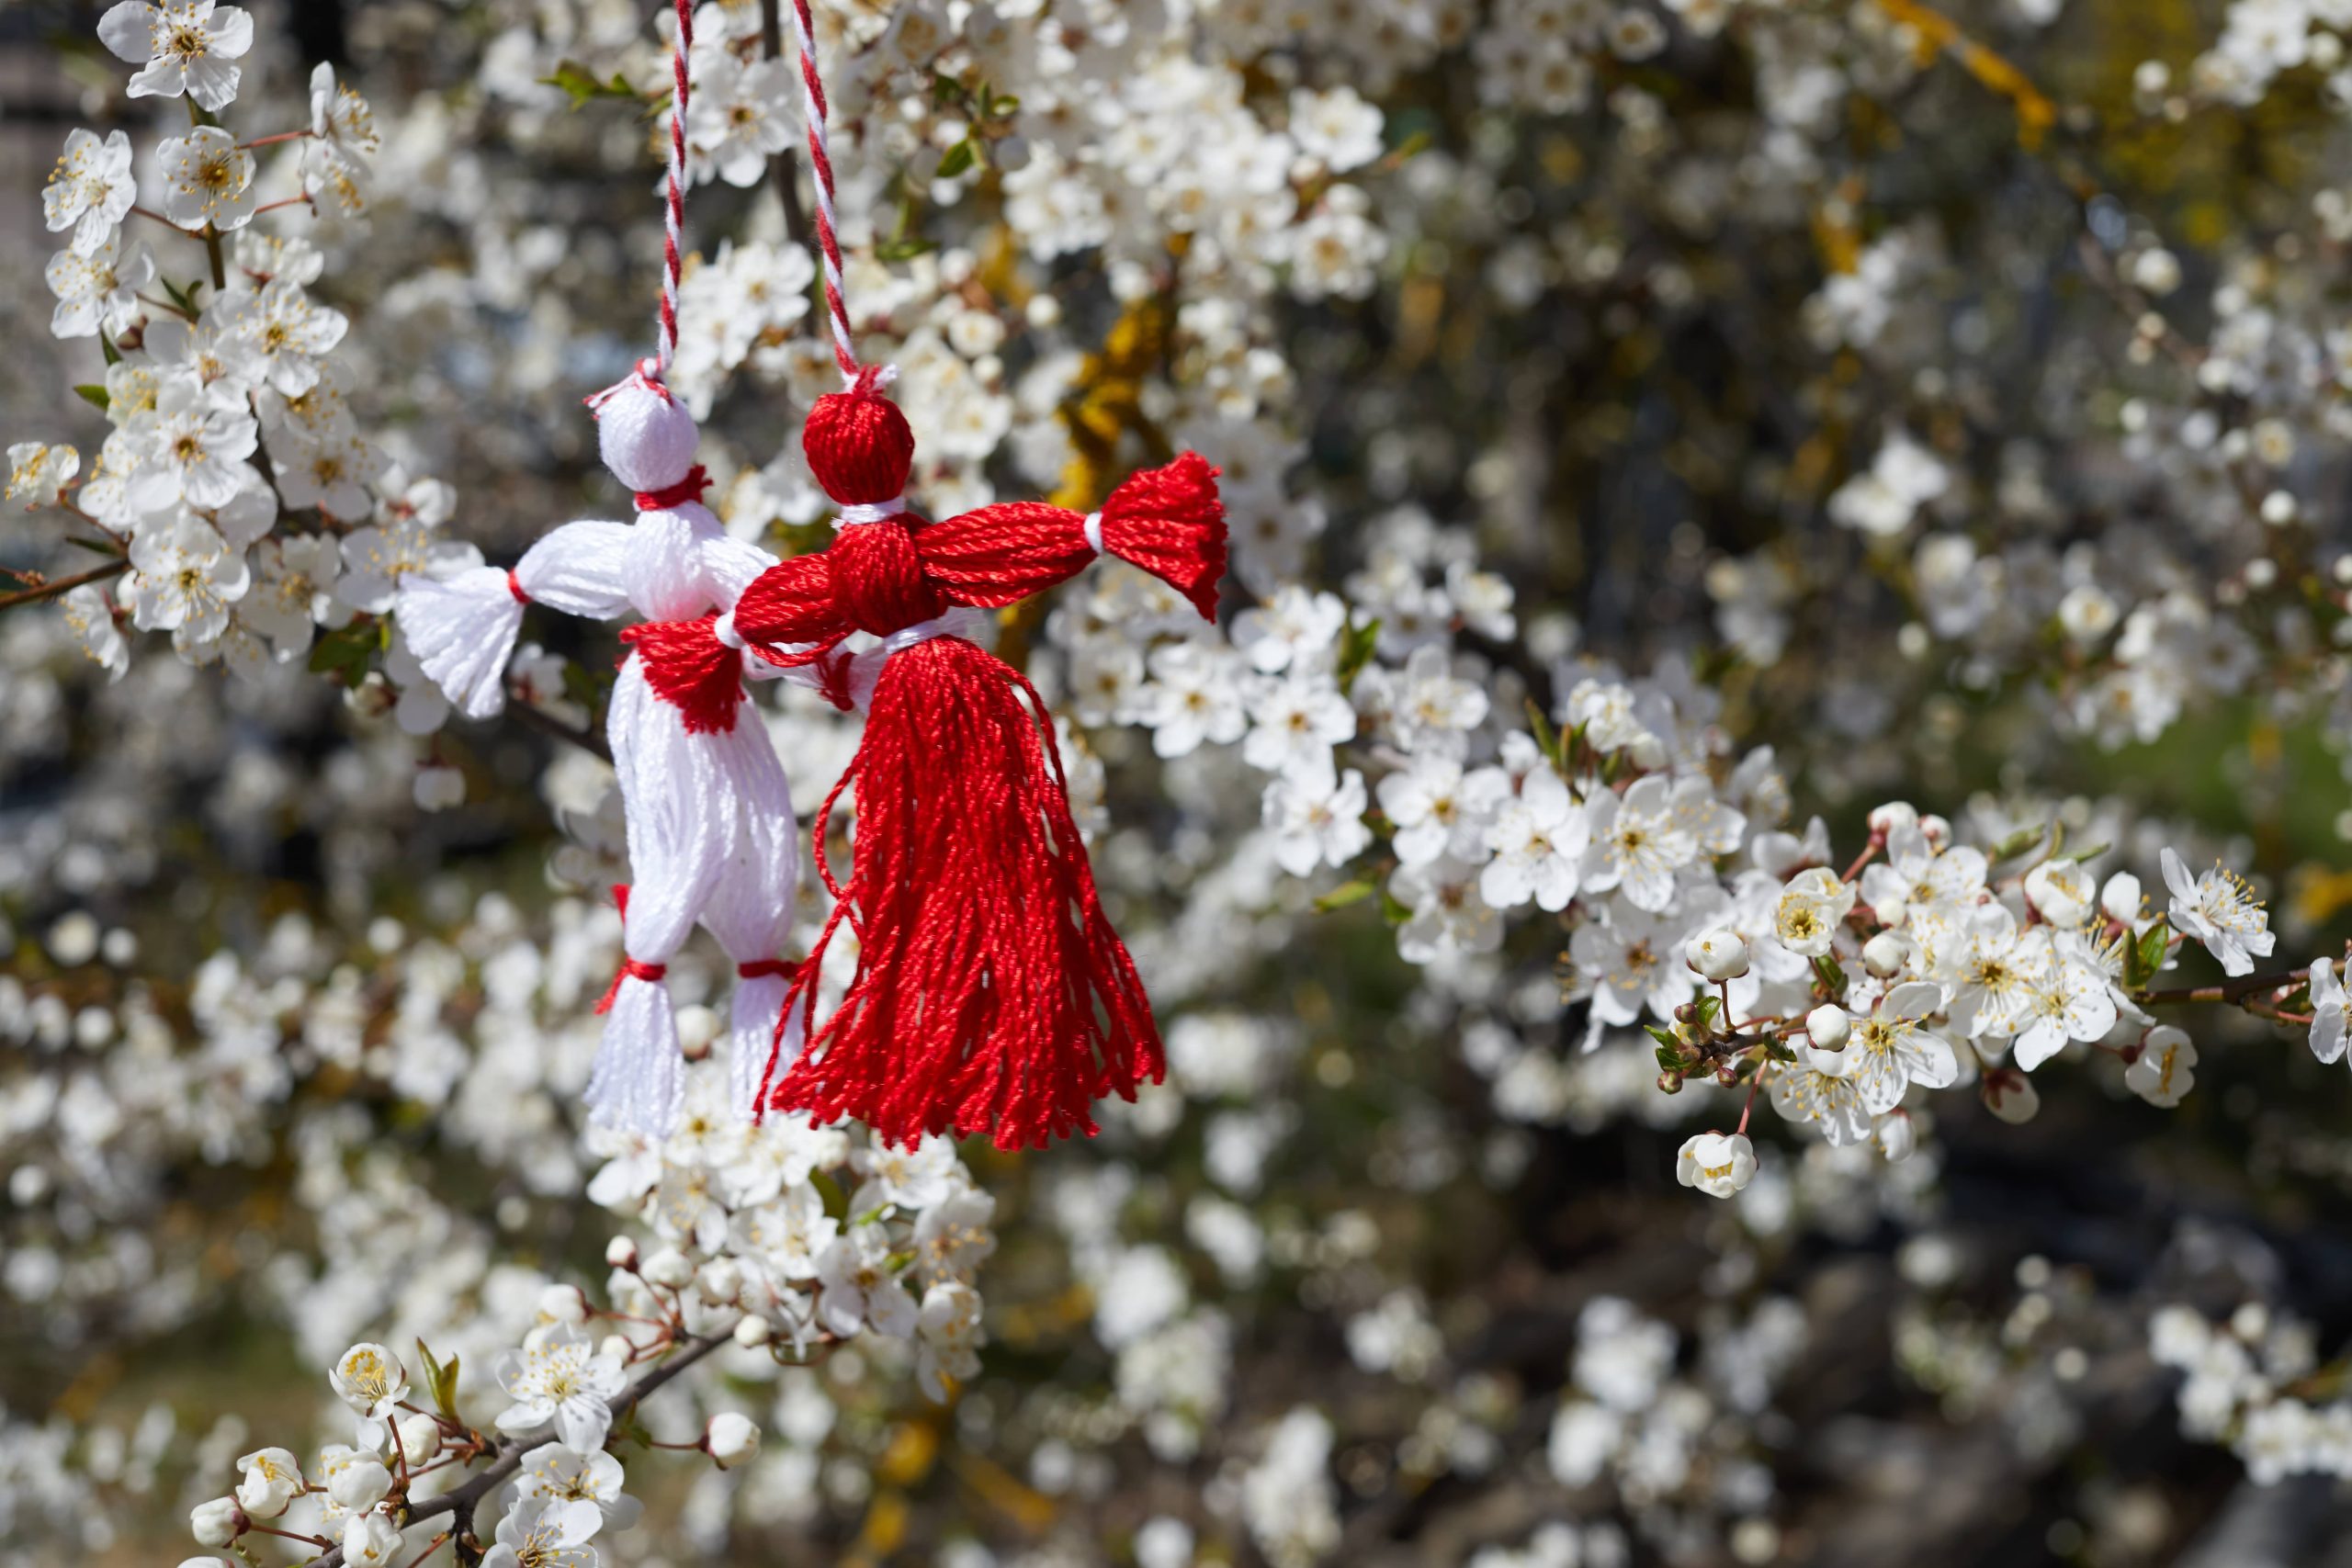
{"label": "white yarn doll with legs tied in red thread", "polygon": [[[659,381],[637,374],[600,395],[604,468],[637,494],[637,520],[569,522],[515,567],[475,567],[447,581],[402,581],[397,618],[423,672],[468,717],[506,705],[506,668],[524,604],[647,625],[623,632],[607,715],[614,771],[628,818],[635,882],[621,891],[623,961],[600,1011],[604,1041],[588,1084],[595,1121],[661,1135],[684,1105],[684,1063],[666,985],[668,961],[701,922],[736,964],[729,1081],[736,1110],[776,1048],[776,1016],[790,985],[779,959],[800,884],[793,799],[757,710],[743,708],[741,644],[729,611],[743,588],[776,564],[729,538],[701,503],[694,416]],[[750,675],[769,675],[750,661]],[[790,672],[835,686],[842,668]],[[786,1058],[800,1041],[786,1037]]]}

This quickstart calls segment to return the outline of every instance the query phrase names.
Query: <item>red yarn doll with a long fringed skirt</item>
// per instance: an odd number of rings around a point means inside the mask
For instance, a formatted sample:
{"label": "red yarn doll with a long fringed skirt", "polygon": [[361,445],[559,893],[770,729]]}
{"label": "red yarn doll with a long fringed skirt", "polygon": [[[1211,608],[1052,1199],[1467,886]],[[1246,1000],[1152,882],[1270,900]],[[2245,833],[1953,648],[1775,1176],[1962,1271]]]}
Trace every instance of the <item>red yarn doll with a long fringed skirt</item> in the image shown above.
{"label": "red yarn doll with a long fringed skirt", "polygon": [[[842,531],[755,578],[734,635],[781,668],[826,661],[851,632],[880,637],[887,656],[856,759],[816,818],[835,907],[783,1011],[804,1009],[809,1044],[786,1060],[779,1025],[762,1105],[858,1117],[894,1145],[953,1131],[1014,1150],[1094,1133],[1094,1100],[1134,1100],[1164,1077],[1160,1030],[1070,820],[1051,715],[1018,670],[955,632],[969,609],[1014,604],[1096,555],[1143,567],[1214,618],[1216,470],[1188,451],[1129,477],[1101,512],[1014,501],[924,522],[903,501],[915,435],[870,371],[818,397],[802,440]],[[823,825],[851,785],[856,846],[835,884]],[[818,971],[844,919],[858,966],[818,1030]]]}

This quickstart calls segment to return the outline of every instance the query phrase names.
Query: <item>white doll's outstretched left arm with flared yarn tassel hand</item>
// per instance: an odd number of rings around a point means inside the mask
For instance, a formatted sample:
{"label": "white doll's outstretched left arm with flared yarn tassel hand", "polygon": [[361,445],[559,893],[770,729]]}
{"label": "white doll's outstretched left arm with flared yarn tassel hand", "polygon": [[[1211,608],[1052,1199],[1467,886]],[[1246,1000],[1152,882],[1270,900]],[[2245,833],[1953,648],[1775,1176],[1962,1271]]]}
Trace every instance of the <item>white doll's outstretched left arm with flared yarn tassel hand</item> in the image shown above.
{"label": "white doll's outstretched left arm with flared yarn tassel hand", "polygon": [[628,609],[626,550],[628,524],[569,522],[524,550],[513,571],[470,567],[449,578],[409,571],[393,616],[426,677],[468,719],[487,719],[506,708],[506,665],[515,658],[522,609],[619,616]]}

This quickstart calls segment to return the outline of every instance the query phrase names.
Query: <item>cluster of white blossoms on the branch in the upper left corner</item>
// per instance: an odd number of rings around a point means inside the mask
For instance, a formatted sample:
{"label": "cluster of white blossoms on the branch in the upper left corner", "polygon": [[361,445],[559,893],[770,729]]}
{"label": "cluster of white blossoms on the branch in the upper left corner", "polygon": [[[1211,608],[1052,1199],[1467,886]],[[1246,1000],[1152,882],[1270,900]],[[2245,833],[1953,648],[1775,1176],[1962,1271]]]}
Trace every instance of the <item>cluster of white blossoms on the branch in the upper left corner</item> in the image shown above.
{"label": "cluster of white blossoms on the branch in the upper left corner", "polygon": [[[216,115],[238,99],[242,68],[230,61],[252,47],[254,26],[212,0],[125,0],[99,38],[141,66],[129,96],[186,94]],[[273,146],[287,148],[285,179],[263,172]],[[306,125],[238,141],[207,118],[155,143],[160,214],[136,207],[139,155],[125,132],[66,136],[42,190],[49,230],[68,233],[47,270],[49,329],[99,339],[103,381],[85,395],[113,430],[87,475],[73,447],[9,447],[7,494],[64,508],[96,534],[85,543],[127,567],[111,588],[64,597],[85,651],[115,677],[129,668],[125,621],[172,632],[191,663],[259,675],[306,656],[320,625],[388,607],[388,595],[367,607],[348,592],[400,569],[358,524],[402,505],[402,484],[383,484],[388,458],[346,400],[334,350],[350,322],[310,294],[327,254],[256,223],[280,207],[315,212],[322,195],[341,216],[362,212],[376,146],[367,101],[332,66],[310,75]],[[270,183],[292,195],[263,202]],[[160,254],[127,237],[134,216],[153,221]]]}

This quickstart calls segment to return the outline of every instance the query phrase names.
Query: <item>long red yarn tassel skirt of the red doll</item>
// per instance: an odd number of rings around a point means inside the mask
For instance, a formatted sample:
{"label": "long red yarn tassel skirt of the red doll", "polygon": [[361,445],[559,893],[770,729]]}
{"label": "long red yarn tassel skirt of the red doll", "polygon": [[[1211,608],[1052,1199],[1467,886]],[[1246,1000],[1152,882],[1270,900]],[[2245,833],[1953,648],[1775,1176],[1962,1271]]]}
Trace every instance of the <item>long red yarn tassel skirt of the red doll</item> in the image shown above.
{"label": "long red yarn tassel skirt of the red doll", "polygon": [[818,858],[837,903],[793,980],[788,1020],[809,1020],[842,919],[856,924],[858,966],[781,1081],[776,1032],[771,1110],[858,1117],[891,1145],[953,1131],[1042,1147],[1094,1133],[1096,1098],[1134,1100],[1164,1074],[1028,679],[962,637],[894,654],[833,795],[851,783],[849,884],[835,886]]}

